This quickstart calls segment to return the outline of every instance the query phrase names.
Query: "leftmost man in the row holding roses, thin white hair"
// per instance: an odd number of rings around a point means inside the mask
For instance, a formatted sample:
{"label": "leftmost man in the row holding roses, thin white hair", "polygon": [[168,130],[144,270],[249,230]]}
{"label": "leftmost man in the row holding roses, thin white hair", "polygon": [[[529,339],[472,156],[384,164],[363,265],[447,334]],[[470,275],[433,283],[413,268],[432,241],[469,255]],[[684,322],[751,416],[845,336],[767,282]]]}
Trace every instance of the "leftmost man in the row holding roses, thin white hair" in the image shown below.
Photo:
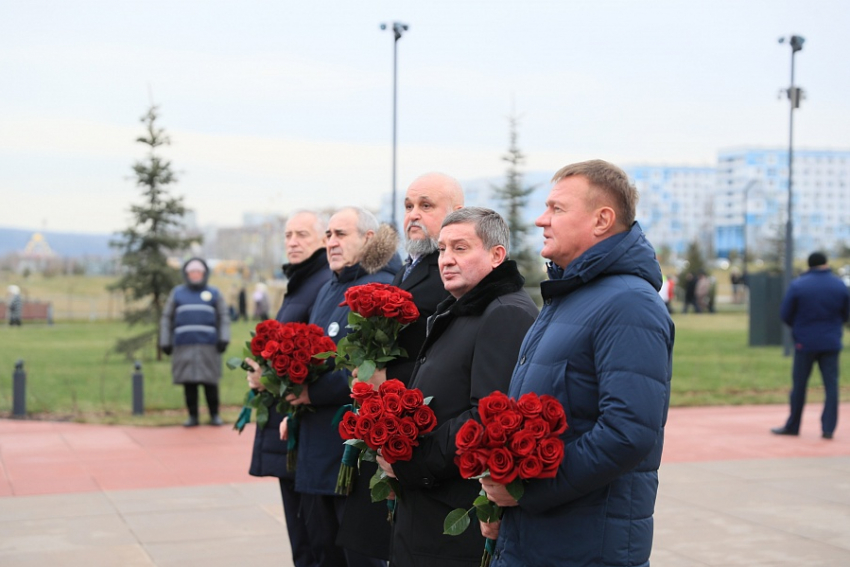
{"label": "leftmost man in the row holding roses, thin white hair", "polygon": [[[283,266],[286,295],[275,317],[281,323],[306,323],[319,290],[331,278],[325,251],[326,226],[325,219],[313,211],[295,212],[286,221],[284,239],[289,261]],[[252,358],[246,358],[245,362],[254,368],[248,373],[248,385],[255,390],[263,389],[260,366]],[[270,407],[265,427],[255,430],[249,473],[278,478],[292,562],[295,567],[312,567],[315,559],[301,514],[301,495],[295,491],[295,472],[286,470],[287,442],[280,438],[282,421],[283,415],[275,406]]]}

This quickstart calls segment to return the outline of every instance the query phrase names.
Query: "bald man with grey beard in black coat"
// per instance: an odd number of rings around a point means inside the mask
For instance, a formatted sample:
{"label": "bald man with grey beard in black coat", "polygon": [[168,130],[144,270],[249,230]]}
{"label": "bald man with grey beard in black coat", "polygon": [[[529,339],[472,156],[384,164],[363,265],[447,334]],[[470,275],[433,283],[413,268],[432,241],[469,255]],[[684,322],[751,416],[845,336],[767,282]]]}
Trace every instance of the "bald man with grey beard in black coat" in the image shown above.
{"label": "bald man with grey beard in black coat", "polygon": [[[405,384],[410,382],[416,356],[425,342],[428,317],[434,314],[441,301],[449,297],[437,266],[440,226],[446,215],[462,206],[463,189],[460,183],[442,173],[421,175],[407,188],[404,199],[404,247],[408,256],[404,269],[399,270],[392,283],[413,295],[419,319],[402,329],[398,335],[398,344],[405,349],[407,357],[398,358],[388,363],[386,369],[377,370],[370,379],[375,385],[387,378],[395,378]],[[361,462],[359,470],[355,470],[339,542],[347,549],[389,559],[390,524],[384,521],[387,505],[385,502],[373,503],[369,489],[369,479],[376,468],[375,463]],[[358,505],[352,506],[354,501]],[[364,509],[369,511],[368,517],[364,517]]]}

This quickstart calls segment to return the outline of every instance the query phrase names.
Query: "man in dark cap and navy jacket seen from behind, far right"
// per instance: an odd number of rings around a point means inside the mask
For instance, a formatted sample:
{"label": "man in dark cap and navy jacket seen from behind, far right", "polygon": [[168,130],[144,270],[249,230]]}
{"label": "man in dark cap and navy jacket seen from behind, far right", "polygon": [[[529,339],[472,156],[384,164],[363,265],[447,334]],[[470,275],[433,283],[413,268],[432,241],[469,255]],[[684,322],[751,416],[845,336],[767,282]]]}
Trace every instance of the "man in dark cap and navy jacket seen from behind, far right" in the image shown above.
{"label": "man in dark cap and navy jacket seen from behind, far right", "polygon": [[832,274],[822,252],[809,256],[809,271],[791,282],[780,308],[782,321],[794,337],[791,415],[776,435],[798,435],[806,385],[815,362],[820,367],[825,400],[821,414],[824,439],[832,439],[838,423],[838,354],[850,315],[850,295],[841,278]]}

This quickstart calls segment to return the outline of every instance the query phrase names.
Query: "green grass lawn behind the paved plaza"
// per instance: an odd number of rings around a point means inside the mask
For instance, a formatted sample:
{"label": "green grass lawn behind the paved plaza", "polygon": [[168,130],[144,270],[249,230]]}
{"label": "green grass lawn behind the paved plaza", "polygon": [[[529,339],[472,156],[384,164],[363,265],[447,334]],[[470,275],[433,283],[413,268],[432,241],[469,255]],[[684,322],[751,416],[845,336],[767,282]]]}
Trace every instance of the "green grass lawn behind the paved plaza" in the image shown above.
{"label": "green grass lawn behind the paved plaza", "polygon": [[[791,358],[781,347],[747,346],[745,313],[674,315],[672,404],[676,406],[785,403]],[[253,323],[236,323],[225,359],[241,355]],[[12,374],[23,359],[27,372],[27,410],[39,418],[101,423],[176,424],[185,418],[182,388],[171,384],[168,358],[142,359],[145,415],[132,415],[133,365],[111,352],[116,337],[130,335],[121,322],[59,322],[0,326],[0,415],[12,411]],[[841,359],[850,375],[850,360]],[[810,400],[823,399],[817,372]],[[221,382],[222,414],[232,422],[241,407],[246,384],[243,371],[226,367]],[[841,390],[850,399],[850,387]],[[201,402],[203,407],[203,401]],[[205,411],[202,409],[202,417]]]}

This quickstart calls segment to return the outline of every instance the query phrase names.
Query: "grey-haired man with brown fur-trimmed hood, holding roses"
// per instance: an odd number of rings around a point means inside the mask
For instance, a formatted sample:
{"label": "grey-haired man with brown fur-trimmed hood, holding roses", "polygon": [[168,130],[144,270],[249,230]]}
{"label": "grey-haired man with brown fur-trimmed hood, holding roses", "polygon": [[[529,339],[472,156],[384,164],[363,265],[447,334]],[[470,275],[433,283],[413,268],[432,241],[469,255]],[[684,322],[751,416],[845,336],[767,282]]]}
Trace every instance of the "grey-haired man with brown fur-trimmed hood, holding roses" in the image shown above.
{"label": "grey-haired man with brown fur-trimmed hood, holding roses", "polygon": [[[339,342],[347,328],[349,308],[340,305],[348,288],[372,282],[390,283],[401,267],[396,254],[398,234],[368,211],[345,208],[334,214],[326,232],[328,264],[333,275],[319,292],[310,323]],[[317,565],[327,567],[381,566],[383,561],[343,549],[336,543],[345,497],[336,495],[336,480],[344,445],[332,425],[337,410],[349,403],[350,373],[332,369],[305,384],[301,395],[288,396],[293,405],[310,405],[299,424],[295,490]]]}

